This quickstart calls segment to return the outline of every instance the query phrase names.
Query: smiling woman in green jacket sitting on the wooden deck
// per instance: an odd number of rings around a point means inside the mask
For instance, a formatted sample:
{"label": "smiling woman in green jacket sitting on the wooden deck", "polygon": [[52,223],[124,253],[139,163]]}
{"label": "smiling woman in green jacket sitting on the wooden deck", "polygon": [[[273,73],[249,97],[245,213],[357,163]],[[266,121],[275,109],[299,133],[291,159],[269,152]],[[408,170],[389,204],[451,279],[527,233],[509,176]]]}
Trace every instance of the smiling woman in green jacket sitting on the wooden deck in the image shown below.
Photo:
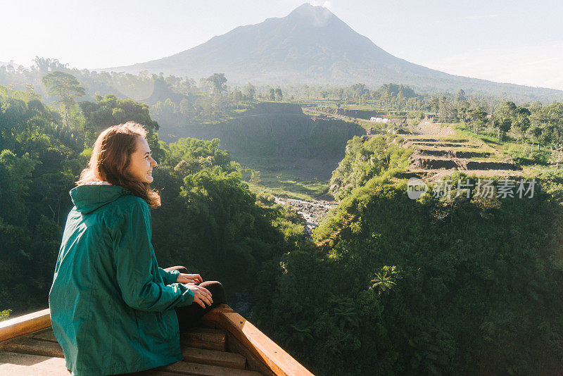
{"label": "smiling woman in green jacket sitting on the wooden deck", "polygon": [[[99,135],[70,191],[49,308],[72,375],[115,375],[181,361],[179,332],[220,303],[219,282],[158,267],[150,208],[157,166],[137,123]],[[203,282],[203,283],[201,283]],[[174,308],[174,309],[173,309]]]}

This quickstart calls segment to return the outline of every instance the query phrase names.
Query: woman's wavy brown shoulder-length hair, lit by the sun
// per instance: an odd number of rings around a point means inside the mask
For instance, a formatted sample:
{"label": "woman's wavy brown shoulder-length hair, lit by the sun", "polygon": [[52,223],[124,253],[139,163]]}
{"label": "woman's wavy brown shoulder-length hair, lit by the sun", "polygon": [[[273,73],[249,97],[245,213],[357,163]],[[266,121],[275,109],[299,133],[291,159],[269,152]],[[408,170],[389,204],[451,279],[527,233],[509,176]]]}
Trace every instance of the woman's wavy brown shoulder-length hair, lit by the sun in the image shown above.
{"label": "woman's wavy brown shoulder-length hair, lit by the sun", "polygon": [[113,185],[129,189],[135,196],[144,199],[151,208],[160,206],[160,195],[150,184],[134,180],[127,172],[131,154],[137,149],[137,138],[146,137],[146,130],[139,123],[129,121],[113,125],[100,133],[88,167],[80,173],[77,185],[105,180]]}

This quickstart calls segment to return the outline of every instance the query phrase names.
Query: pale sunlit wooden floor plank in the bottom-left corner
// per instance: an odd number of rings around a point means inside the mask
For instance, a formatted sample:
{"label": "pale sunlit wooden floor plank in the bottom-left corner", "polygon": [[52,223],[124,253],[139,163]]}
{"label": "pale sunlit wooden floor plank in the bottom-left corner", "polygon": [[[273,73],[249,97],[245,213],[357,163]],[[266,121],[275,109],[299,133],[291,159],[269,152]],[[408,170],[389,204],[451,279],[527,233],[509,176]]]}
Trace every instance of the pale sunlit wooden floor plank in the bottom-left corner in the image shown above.
{"label": "pale sunlit wooden floor plank in the bottom-left corner", "polygon": [[63,358],[0,352],[0,375],[70,376]]}

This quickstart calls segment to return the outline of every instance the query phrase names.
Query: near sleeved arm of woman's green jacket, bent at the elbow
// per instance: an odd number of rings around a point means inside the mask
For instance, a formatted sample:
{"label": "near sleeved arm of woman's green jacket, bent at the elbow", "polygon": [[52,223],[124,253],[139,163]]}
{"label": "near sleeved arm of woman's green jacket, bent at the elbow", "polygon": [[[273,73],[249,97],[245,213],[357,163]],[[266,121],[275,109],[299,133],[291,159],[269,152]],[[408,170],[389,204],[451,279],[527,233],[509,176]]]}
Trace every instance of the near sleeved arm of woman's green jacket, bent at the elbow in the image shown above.
{"label": "near sleeved arm of woman's green jacket, bent at the elbow", "polygon": [[189,306],[194,293],[182,284],[157,283],[158,263],[151,244],[151,217],[146,203],[135,201],[113,226],[117,282],[128,306],[165,311]]}

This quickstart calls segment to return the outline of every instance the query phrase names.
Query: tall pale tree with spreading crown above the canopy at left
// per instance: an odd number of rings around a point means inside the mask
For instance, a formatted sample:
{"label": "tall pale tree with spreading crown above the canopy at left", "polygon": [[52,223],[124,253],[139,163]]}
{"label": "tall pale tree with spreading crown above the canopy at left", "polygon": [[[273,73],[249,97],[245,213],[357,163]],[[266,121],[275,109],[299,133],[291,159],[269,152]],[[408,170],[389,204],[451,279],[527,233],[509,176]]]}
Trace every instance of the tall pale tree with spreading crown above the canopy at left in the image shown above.
{"label": "tall pale tree with spreading crown above the canopy at left", "polygon": [[58,96],[58,103],[63,107],[65,126],[68,127],[68,118],[72,110],[76,109],[75,97],[84,96],[86,90],[75,76],[60,70],[45,75],[42,81],[49,90],[49,95]]}

